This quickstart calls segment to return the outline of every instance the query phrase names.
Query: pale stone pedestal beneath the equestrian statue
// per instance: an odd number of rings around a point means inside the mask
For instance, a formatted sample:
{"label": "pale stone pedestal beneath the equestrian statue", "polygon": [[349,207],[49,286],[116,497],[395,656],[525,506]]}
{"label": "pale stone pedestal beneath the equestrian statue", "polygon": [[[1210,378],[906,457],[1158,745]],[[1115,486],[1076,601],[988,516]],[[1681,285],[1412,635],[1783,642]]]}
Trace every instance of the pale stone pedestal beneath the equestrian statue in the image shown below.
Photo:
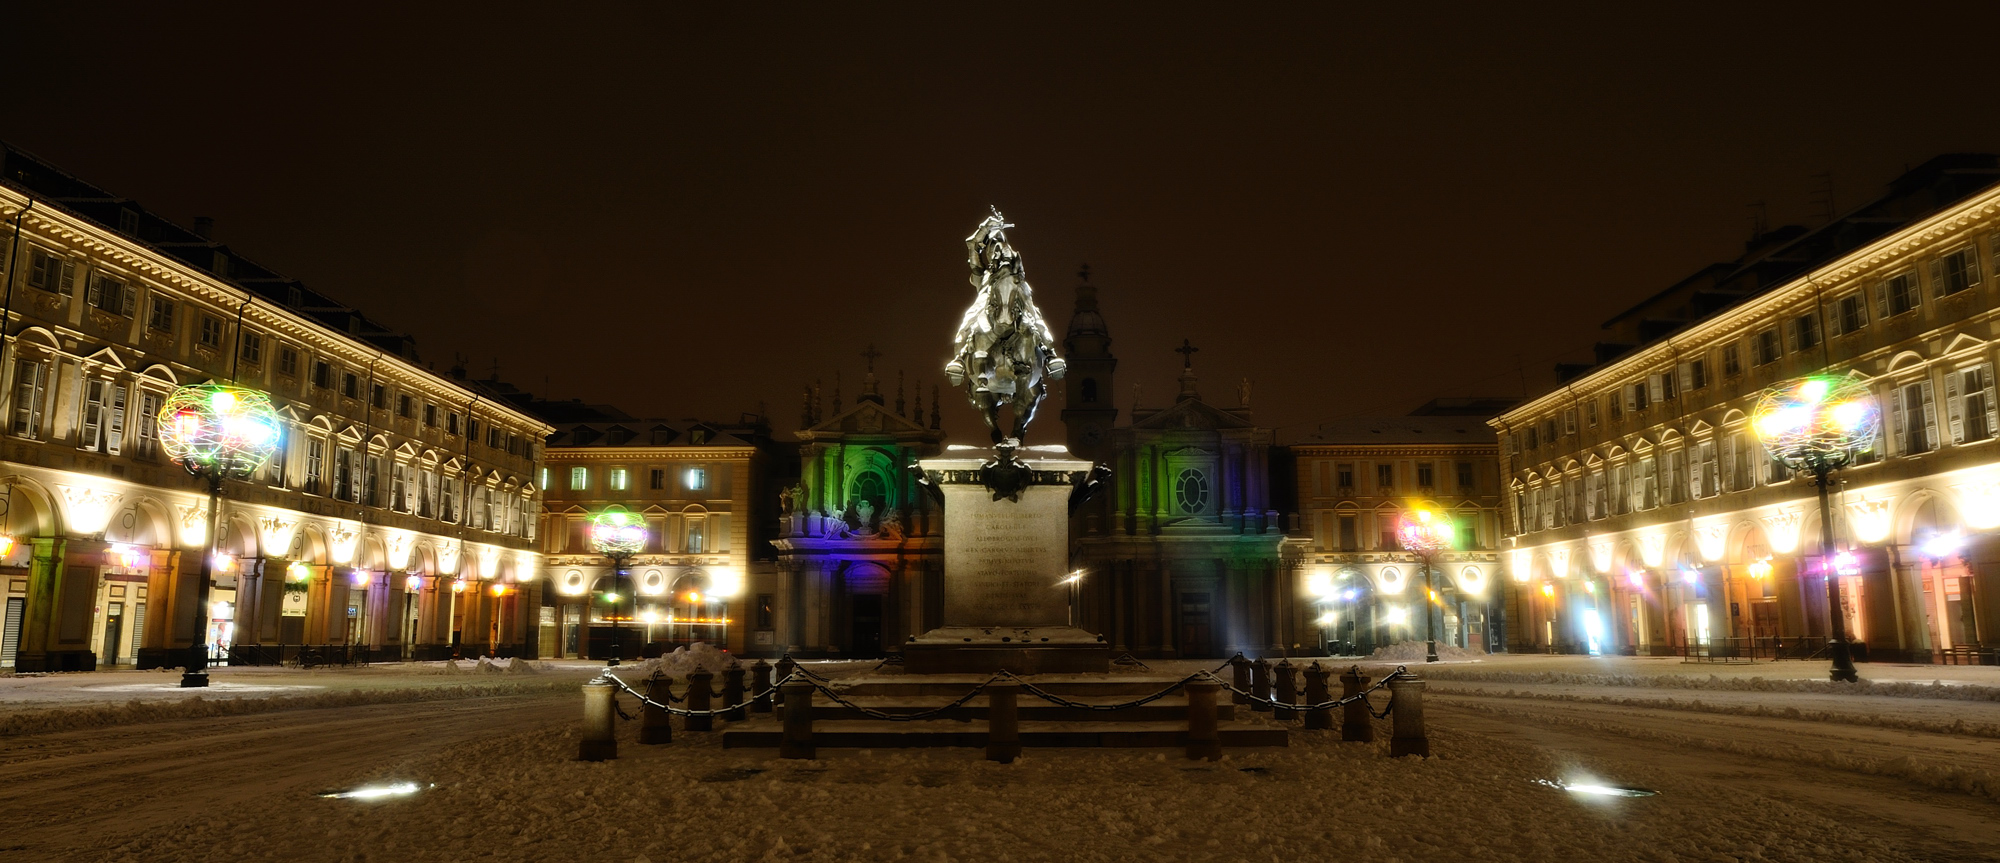
{"label": "pale stone pedestal beneath the equestrian statue", "polygon": [[[1060,449],[1060,447],[1056,447]],[[912,673],[1108,671],[1110,645],[1070,625],[1070,489],[1090,461],[992,449],[924,459],[944,491],[944,625],[904,643]]]}

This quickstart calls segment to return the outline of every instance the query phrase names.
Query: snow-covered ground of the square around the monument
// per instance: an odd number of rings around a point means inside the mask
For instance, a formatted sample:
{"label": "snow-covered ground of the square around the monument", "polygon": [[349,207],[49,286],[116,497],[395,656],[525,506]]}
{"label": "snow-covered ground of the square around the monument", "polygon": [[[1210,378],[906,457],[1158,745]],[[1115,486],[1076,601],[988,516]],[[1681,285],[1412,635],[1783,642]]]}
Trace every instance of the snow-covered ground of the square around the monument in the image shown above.
{"label": "snow-covered ground of the square around the monument", "polygon": [[[1030,749],[1014,765],[976,749],[782,761],[714,733],[640,747],[620,723],[622,757],[580,763],[574,683],[594,667],[480,677],[566,677],[558,691],[8,735],[0,861],[2000,859],[2000,701],[1968,697],[2000,689],[1996,669],[1862,665],[1894,685],[1820,691],[1818,663],[1406,665],[1432,681],[1428,761],[1390,759],[1388,723],[1372,745],[1296,731],[1222,763]],[[316,797],[388,781],[422,789]],[[1550,785],[1582,781],[1660,793]]]}

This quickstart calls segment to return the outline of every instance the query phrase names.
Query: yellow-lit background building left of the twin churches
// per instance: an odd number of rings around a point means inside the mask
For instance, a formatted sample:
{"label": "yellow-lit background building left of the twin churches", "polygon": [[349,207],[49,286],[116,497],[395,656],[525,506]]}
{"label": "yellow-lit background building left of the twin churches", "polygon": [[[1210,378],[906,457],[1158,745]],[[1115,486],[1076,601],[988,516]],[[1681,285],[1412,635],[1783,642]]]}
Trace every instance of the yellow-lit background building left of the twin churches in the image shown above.
{"label": "yellow-lit background building left of the twin churches", "polygon": [[[782,651],[772,477],[790,471],[764,418],[636,420],[574,402],[536,412],[556,422],[542,465],[542,655],[602,659],[618,639],[624,659],[696,641]],[[606,509],[646,525],[624,579],[590,541],[590,517]]]}

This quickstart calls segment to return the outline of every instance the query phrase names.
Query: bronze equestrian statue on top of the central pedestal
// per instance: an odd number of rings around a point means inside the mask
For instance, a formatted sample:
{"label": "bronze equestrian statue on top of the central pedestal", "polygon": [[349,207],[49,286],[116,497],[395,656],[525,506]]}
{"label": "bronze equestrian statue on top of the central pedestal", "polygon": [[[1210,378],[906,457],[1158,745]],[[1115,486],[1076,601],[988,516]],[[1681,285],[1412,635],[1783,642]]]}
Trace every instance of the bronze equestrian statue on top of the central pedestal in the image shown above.
{"label": "bronze equestrian statue on top of the central pedestal", "polygon": [[[1048,382],[1062,380],[1066,368],[1056,356],[1056,334],[1034,306],[1020,254],[1006,242],[1008,228],[994,210],[966,238],[970,282],[978,294],[958,324],[944,376],[952,386],[966,388],[994,443],[1014,449],[1048,396]],[[1000,408],[1014,410],[1012,430],[1002,426]]]}

